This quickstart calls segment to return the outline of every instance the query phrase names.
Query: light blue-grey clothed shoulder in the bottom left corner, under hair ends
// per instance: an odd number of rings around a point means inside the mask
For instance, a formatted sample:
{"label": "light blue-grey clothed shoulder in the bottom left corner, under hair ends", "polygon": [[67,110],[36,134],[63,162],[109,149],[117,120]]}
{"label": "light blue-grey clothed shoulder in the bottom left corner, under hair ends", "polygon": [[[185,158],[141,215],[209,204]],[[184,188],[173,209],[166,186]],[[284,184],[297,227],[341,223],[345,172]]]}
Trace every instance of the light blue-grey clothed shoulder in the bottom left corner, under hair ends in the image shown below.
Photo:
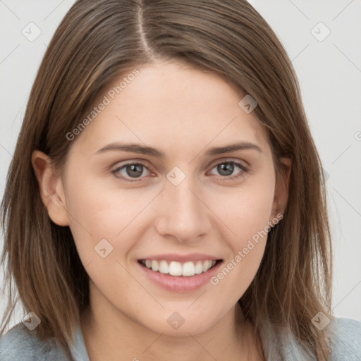
{"label": "light blue-grey clothed shoulder in the bottom left corner, under hair ends", "polygon": [[[54,358],[54,356],[56,358]],[[21,322],[13,326],[4,336],[0,337],[1,361],[65,361],[63,353],[51,341],[37,338],[35,331],[30,331]]]}

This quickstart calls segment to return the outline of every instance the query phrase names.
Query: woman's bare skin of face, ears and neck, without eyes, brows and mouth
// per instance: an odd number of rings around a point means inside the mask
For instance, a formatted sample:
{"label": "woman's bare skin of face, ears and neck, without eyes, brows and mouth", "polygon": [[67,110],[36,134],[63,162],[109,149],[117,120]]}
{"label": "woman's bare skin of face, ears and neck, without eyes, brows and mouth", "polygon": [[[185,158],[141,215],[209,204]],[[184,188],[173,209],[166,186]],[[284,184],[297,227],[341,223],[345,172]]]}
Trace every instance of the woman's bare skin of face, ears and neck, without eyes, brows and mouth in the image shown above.
{"label": "woman's bare skin of face, ears and neck, without eyes, brows and mouth", "polygon": [[[147,255],[192,252],[231,262],[248,240],[283,214],[290,159],[276,173],[261,124],[238,106],[244,95],[214,73],[177,62],[139,68],[140,74],[72,141],[60,175],[49,157],[32,154],[32,164],[49,216],[69,226],[90,276],[90,312],[82,332],[90,360],[262,360],[237,301],[254,279],[266,238],[216,286],[174,293],[152,283],[137,260]],[[114,81],[117,85],[119,79]],[[110,85],[108,90],[113,85]],[[99,94],[99,100],[106,92]],[[64,140],[68,141],[68,140]],[[166,157],[108,151],[111,142],[137,142]],[[252,142],[253,149],[206,156],[211,147]],[[146,164],[138,178],[127,163]],[[217,164],[236,161],[229,179]],[[177,166],[179,185],[166,175]],[[228,178],[227,178],[228,177]],[[140,181],[139,181],[140,179]],[[94,246],[105,238],[105,258]],[[167,319],[185,320],[175,330]]]}

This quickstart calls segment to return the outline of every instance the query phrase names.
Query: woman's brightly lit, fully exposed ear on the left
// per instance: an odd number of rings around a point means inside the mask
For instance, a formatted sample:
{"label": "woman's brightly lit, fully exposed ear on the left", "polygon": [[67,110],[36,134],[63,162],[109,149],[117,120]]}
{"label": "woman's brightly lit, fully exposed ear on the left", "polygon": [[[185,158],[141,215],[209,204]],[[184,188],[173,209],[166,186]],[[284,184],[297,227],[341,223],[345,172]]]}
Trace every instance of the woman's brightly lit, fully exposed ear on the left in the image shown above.
{"label": "woman's brightly lit, fully exposed ear on the left", "polygon": [[61,177],[56,175],[47,154],[32,152],[32,166],[39,183],[40,197],[47,208],[49,217],[58,226],[68,226],[68,211],[63,192]]}

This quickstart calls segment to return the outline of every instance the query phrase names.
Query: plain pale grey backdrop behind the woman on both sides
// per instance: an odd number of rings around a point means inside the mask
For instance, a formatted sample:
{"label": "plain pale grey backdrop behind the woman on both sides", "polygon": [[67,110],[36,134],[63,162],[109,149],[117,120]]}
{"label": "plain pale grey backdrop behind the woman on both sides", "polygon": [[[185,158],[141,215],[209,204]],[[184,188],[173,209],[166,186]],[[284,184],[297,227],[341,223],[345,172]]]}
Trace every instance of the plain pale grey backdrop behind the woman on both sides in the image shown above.
{"label": "plain pale grey backdrop behind the woman on both sides", "polygon": [[[328,178],[334,313],[361,321],[361,1],[250,2],[274,29],[293,61]],[[0,0],[1,197],[37,68],[73,3]],[[1,249],[2,244],[3,238]],[[2,277],[1,270],[1,288]],[[0,315],[6,297],[6,293],[2,298],[0,294]],[[20,320],[19,314],[13,323]]]}

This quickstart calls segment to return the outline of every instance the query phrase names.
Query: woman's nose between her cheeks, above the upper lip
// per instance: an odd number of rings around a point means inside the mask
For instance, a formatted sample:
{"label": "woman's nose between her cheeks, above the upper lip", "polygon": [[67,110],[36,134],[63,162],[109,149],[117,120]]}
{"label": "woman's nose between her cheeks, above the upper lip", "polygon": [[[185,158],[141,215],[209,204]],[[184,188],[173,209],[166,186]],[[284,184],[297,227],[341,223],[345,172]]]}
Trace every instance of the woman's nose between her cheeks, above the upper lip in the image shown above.
{"label": "woman's nose between her cheeks, above the upper lip", "polygon": [[157,200],[156,228],[160,235],[181,243],[192,243],[209,233],[212,212],[204,202],[205,192],[190,176],[178,185],[166,181]]}

